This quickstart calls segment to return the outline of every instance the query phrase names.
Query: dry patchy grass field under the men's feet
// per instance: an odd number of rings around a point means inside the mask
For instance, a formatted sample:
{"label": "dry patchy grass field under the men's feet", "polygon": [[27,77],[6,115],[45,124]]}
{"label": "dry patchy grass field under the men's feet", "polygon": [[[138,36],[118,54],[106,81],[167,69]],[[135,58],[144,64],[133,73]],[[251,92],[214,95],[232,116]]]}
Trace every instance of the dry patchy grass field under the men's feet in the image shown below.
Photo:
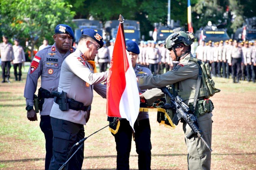
{"label": "dry patchy grass field under the men's feet", "polygon": [[[12,69],[11,83],[0,83],[0,169],[44,169],[44,135],[39,127],[40,121],[30,122],[26,116],[23,97],[26,73],[23,73],[23,81],[14,81]],[[216,170],[256,169],[256,84],[246,81],[233,84],[231,79],[224,78],[214,80],[221,92],[211,97],[215,107],[211,167]],[[85,136],[108,125],[106,100],[96,92],[94,95]],[[168,129],[159,126],[156,115],[150,114],[151,169],[187,169],[181,123],[174,130]],[[137,161],[132,141],[130,169],[138,169]],[[115,167],[115,140],[105,128],[85,141],[83,169]]]}

